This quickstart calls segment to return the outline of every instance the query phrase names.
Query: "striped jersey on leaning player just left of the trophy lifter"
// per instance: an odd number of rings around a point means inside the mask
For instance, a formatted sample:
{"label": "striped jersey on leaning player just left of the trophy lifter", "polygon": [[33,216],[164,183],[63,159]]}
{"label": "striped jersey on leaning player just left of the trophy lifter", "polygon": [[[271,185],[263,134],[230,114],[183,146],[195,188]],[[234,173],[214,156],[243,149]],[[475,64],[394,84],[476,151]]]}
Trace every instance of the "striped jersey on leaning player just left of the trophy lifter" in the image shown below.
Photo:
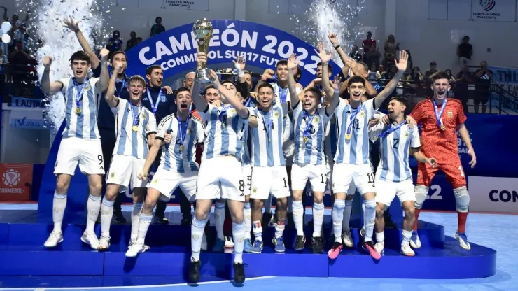
{"label": "striped jersey on leaning player just left of the trophy lifter", "polygon": [[[176,113],[162,118],[158,125],[156,139],[164,139],[166,133],[173,136],[171,143],[162,146],[160,166],[167,171],[189,173],[198,171],[196,163],[196,145],[205,139],[205,124],[193,115],[188,120],[180,121]],[[183,143],[182,143],[182,136]]]}

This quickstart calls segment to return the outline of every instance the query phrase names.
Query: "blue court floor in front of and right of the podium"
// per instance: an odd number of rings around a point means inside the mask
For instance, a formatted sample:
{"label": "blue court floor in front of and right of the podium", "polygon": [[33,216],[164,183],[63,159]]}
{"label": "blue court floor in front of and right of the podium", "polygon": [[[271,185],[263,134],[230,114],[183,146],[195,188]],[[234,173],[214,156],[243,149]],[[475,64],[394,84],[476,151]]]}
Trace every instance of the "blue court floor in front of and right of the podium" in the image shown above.
{"label": "blue court floor in front of and right of the podium", "polygon": [[[456,213],[422,213],[419,219],[444,225],[447,236],[453,236],[456,231]],[[167,276],[3,276],[0,277],[0,290],[518,290],[518,250],[514,243],[518,240],[517,225],[518,215],[472,213],[468,216],[470,242],[497,252],[496,275],[489,278],[423,280],[267,276],[247,278],[244,285],[235,285],[232,281],[206,277],[202,283],[188,285],[183,278]],[[264,267],[290,268],[278,264],[265,264]],[[353,265],[350,267],[355,268]],[[456,267],[462,269],[466,266],[459,264]],[[412,264],[401,265],[398,269],[405,272],[405,269],[412,269]],[[366,277],[370,271],[365,269]]]}

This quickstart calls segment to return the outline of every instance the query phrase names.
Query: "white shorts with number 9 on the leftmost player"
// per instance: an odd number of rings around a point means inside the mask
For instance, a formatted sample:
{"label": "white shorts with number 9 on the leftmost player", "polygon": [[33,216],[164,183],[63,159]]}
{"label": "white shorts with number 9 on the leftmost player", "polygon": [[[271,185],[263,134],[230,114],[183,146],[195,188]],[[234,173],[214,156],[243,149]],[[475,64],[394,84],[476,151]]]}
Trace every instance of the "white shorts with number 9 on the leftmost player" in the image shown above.
{"label": "white shorts with number 9 on the leftmost player", "polygon": [[106,169],[100,139],[68,137],[61,140],[54,173],[73,176],[78,164],[82,173],[104,175]]}

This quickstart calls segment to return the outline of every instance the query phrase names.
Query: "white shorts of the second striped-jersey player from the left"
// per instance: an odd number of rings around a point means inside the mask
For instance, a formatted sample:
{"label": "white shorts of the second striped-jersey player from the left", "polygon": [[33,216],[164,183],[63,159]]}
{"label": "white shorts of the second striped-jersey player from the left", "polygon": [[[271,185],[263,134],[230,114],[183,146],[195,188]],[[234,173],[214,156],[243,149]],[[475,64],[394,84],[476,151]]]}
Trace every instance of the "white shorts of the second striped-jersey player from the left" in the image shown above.
{"label": "white shorts of the second striped-jersey player from the left", "polygon": [[130,185],[131,190],[136,187],[146,187],[148,179],[139,179],[139,173],[144,168],[144,164],[146,164],[146,159],[137,159],[127,155],[114,155],[111,158],[106,184],[120,185],[119,192],[125,192],[128,185]]}

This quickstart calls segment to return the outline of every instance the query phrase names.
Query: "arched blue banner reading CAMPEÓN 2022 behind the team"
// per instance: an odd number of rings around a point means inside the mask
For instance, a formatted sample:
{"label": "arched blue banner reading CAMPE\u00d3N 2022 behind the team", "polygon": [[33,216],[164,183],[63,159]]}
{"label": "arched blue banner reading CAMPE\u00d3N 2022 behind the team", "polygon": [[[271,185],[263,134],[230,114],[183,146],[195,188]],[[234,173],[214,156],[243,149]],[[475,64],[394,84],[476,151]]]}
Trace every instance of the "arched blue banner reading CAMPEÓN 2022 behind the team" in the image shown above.
{"label": "arched blue banner reading CAMPE\u00d3N 2022 behind the team", "polygon": [[[279,59],[288,59],[295,53],[302,67],[300,83],[315,78],[320,58],[315,48],[285,31],[266,25],[239,20],[211,20],[214,27],[209,46],[210,67],[213,64],[232,63],[237,56],[246,57],[247,66],[275,69]],[[327,40],[326,40],[327,41]],[[158,64],[164,70],[164,79],[196,68],[197,41],[193,24],[186,24],[149,38],[127,52],[126,73],[144,75],[148,66]],[[332,63],[332,71],[340,68]],[[250,69],[250,68],[249,68]],[[183,77],[181,75],[177,76]]]}

